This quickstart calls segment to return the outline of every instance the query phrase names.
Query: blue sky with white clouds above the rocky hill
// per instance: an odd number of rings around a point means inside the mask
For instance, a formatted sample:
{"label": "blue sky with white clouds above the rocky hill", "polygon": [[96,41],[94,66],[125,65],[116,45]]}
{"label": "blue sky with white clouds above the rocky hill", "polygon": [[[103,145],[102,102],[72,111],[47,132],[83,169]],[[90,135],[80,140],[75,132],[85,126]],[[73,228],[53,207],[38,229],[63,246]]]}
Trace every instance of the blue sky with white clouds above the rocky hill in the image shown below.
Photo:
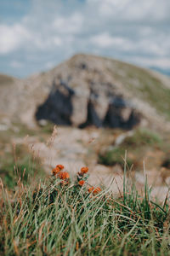
{"label": "blue sky with white clouds above the rocky hill", "polygon": [[0,73],[25,78],[77,53],[170,74],[170,0],[0,0]]}

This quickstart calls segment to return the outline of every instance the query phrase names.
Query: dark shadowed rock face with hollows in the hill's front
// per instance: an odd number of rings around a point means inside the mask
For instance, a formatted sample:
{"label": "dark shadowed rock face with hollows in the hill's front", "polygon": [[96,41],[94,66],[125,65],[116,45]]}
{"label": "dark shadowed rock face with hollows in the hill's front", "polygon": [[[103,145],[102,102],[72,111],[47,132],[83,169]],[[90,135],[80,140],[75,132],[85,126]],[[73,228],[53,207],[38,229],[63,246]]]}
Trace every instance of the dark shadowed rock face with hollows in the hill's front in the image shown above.
{"label": "dark shadowed rock face with hollows in the hill's front", "polygon": [[[88,69],[87,64],[81,64],[81,67],[82,72]],[[67,80],[59,74],[48,98],[37,108],[37,120],[48,119],[57,125],[81,128],[95,125],[132,129],[139,124],[141,114],[123,96],[116,94],[114,84],[94,79],[86,82],[84,90],[84,81],[80,80],[80,84],[74,87],[73,80],[72,74]]]}

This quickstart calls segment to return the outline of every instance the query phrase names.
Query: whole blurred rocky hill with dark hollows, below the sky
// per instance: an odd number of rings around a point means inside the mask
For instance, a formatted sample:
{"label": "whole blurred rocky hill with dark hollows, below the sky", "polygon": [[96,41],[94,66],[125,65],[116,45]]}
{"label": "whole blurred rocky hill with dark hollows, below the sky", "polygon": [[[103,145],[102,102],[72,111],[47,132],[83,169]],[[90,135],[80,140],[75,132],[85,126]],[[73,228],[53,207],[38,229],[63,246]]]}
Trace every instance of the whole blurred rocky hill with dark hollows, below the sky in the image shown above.
{"label": "whole blurred rocky hill with dark hollows, below the sky", "polygon": [[34,126],[131,129],[139,123],[168,129],[170,79],[122,61],[74,55],[54,69],[14,79],[0,75],[1,117]]}

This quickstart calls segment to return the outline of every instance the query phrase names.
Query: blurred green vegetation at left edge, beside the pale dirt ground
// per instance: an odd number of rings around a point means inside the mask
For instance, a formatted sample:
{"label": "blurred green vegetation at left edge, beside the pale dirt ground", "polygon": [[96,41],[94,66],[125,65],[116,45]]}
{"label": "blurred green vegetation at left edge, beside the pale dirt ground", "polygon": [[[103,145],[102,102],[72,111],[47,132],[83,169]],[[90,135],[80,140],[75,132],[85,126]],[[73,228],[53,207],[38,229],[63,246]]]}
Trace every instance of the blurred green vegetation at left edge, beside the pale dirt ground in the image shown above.
{"label": "blurred green vegetation at left edge, beside the pale dirt ground", "polygon": [[0,135],[0,176],[3,183],[9,188],[14,188],[18,177],[26,183],[28,177],[38,177],[44,175],[41,160],[37,157],[33,150],[30,150],[28,145],[12,141],[14,138],[21,138],[24,143],[24,138],[29,134],[30,136],[39,135],[38,131],[28,129],[26,125],[13,124],[7,131],[1,131]]}

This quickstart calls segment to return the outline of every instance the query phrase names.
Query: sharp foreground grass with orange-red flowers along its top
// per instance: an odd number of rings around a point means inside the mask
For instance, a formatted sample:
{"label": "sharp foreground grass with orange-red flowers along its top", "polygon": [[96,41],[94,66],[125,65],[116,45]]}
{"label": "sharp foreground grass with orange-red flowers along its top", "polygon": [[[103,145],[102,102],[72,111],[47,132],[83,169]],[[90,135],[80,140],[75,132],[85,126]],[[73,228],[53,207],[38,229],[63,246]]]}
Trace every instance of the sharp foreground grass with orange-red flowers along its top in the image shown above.
{"label": "sharp foreground grass with orange-red flowers along its top", "polygon": [[126,180],[118,198],[56,167],[39,183],[1,182],[1,255],[170,255],[169,206]]}

